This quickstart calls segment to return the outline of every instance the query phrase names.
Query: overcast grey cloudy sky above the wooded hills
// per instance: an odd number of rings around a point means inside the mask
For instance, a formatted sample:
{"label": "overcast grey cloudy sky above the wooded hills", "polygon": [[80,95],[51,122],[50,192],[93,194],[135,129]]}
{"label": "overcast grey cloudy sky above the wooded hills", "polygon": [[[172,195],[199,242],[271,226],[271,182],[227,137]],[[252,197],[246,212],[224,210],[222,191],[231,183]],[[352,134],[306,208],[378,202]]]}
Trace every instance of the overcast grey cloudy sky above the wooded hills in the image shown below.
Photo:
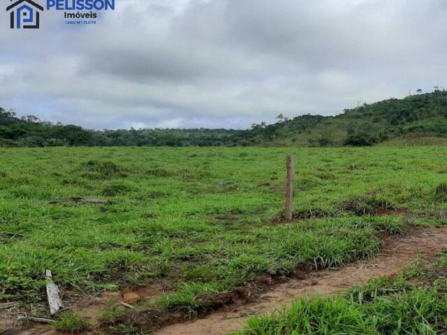
{"label": "overcast grey cloudy sky above the wooded hills", "polygon": [[44,11],[40,29],[0,10],[0,107],[95,129],[249,128],[447,87],[445,0],[115,7],[83,26]]}

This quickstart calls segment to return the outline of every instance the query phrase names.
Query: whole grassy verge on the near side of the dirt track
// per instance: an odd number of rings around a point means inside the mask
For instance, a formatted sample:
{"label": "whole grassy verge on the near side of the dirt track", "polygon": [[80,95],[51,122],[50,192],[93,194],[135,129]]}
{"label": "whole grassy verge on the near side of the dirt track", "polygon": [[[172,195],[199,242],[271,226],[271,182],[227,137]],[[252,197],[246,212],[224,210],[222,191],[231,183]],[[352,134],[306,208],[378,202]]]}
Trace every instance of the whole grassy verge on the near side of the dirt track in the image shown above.
{"label": "whole grassy verge on the near side of the dirt track", "polygon": [[446,274],[444,253],[432,269],[406,269],[335,297],[303,297],[291,308],[252,318],[237,335],[446,334]]}

